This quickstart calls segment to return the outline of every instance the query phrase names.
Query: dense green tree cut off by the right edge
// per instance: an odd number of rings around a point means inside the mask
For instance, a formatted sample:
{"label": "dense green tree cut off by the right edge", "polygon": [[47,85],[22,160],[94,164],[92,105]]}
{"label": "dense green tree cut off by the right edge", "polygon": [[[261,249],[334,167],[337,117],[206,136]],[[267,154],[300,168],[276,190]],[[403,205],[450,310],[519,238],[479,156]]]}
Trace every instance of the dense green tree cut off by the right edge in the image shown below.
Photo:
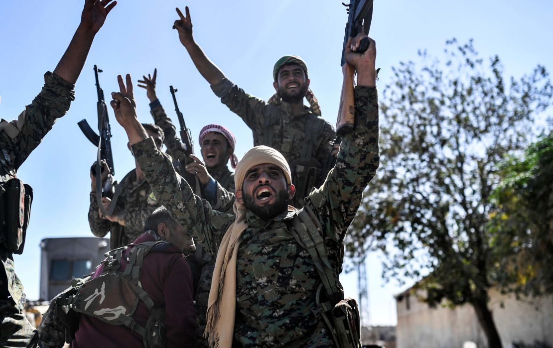
{"label": "dense green tree cut off by the right edge", "polygon": [[506,162],[492,195],[496,276],[504,291],[553,293],[553,133]]}

